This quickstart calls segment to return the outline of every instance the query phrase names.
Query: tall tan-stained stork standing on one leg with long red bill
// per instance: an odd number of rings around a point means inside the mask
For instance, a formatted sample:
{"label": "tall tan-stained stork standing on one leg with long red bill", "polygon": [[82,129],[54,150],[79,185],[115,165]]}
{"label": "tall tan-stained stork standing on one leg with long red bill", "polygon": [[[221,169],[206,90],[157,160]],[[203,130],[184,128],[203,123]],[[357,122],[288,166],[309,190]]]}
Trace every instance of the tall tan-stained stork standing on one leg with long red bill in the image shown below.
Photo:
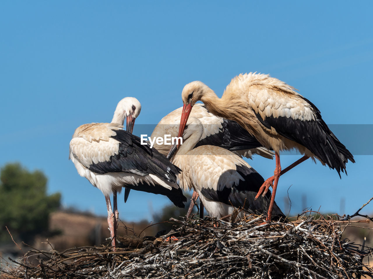
{"label": "tall tan-stained stork standing on one leg with long red bill", "polygon": [[[201,100],[214,115],[231,119],[253,135],[264,147],[275,151],[274,176],[267,179],[256,198],[267,192],[273,183],[268,210],[271,219],[279,176],[308,158],[317,158],[323,165],[340,172],[346,170],[350,151],[336,138],[321,118],[319,109],[295,89],[267,74],[240,74],[226,87],[222,98],[206,84],[193,81],[182,91],[184,103],[178,137],[180,137],[195,102]],[[279,152],[297,149],[304,156],[281,171]]]}

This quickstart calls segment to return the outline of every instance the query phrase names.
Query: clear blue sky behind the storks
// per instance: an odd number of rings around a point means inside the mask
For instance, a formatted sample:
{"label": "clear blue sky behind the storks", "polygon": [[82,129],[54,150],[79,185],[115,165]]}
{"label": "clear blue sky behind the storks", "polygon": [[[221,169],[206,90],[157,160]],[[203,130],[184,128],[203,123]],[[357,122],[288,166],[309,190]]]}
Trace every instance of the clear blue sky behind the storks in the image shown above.
{"label": "clear blue sky behind the storks", "polygon": [[[40,169],[64,205],[106,215],[102,193],[68,160],[74,129],[109,122],[126,96],[142,104],[136,125],[156,124],[182,106],[186,83],[201,80],[221,96],[232,77],[250,71],[299,89],[327,124],[373,124],[372,8],[371,1],[2,1],[0,166]],[[361,135],[347,134],[350,150],[365,148]],[[282,156],[282,166],[298,157]],[[301,164],[280,178],[276,201],[283,208],[292,185],[294,212],[307,195],[313,209],[341,213],[345,199],[345,212],[354,213],[373,196],[372,156],[355,160],[342,179],[320,163]],[[273,175],[274,161],[249,164]],[[169,203],[137,191],[122,201],[120,217],[130,221],[151,220],[150,210]]]}

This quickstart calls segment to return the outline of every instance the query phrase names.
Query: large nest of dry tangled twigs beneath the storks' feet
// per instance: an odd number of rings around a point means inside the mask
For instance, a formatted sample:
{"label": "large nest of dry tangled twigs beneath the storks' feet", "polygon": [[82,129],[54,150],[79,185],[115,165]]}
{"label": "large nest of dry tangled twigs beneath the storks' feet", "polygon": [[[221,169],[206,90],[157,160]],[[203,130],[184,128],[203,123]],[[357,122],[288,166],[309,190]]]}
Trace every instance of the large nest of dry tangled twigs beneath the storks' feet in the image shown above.
{"label": "large nest of dry tangled twigs beneath the storks' feet", "polygon": [[[364,220],[363,220],[364,221]],[[373,277],[364,264],[372,248],[343,240],[351,224],[320,217],[270,222],[250,217],[171,218],[173,231],[154,240],[119,237],[119,251],[80,247],[63,252],[28,251],[8,278],[360,278]],[[355,221],[362,222],[362,221]],[[369,222],[369,220],[366,220]],[[31,253],[37,264],[29,262]]]}

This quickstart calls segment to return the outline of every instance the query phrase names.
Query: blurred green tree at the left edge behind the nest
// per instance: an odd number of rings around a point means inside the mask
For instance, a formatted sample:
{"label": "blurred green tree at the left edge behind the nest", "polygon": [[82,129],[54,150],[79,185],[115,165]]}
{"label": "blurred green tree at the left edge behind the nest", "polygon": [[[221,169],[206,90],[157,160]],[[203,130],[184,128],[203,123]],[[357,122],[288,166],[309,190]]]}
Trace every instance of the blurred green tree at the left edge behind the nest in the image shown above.
{"label": "blurred green tree at the left edge behind the nest", "polygon": [[31,241],[48,231],[50,212],[60,207],[61,194],[47,195],[47,177],[19,163],[6,164],[0,173],[0,242],[13,238]]}

